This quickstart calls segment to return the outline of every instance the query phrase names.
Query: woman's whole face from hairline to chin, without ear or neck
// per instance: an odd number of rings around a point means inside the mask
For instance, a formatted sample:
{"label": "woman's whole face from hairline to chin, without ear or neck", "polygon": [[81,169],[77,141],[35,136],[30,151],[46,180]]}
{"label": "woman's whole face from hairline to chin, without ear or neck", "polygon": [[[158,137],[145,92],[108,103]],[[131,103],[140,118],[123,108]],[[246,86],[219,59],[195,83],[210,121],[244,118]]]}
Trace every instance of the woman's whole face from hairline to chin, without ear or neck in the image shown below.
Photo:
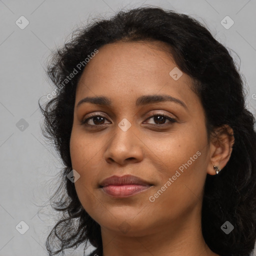
{"label": "woman's whole face from hairline to chin, without ear or neck", "polygon": [[78,198],[101,229],[143,235],[200,220],[209,146],[191,85],[161,42],[106,44],[86,64],[70,156]]}

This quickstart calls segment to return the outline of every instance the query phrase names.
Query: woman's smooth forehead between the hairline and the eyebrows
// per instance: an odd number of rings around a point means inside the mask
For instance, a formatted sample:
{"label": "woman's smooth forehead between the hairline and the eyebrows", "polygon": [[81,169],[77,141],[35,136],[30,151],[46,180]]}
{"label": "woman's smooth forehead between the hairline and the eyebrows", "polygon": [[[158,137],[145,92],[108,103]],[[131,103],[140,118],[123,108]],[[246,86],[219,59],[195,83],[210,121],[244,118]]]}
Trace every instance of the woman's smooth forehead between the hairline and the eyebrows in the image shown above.
{"label": "woman's smooth forehead between the hairline and the eyebrows", "polygon": [[182,97],[184,101],[198,101],[190,89],[192,79],[182,72],[174,80],[169,74],[173,68],[177,65],[170,47],[161,41],[103,45],[83,70],[77,86],[76,102],[82,96],[98,94],[131,98],[132,94],[149,93],[167,93]]}

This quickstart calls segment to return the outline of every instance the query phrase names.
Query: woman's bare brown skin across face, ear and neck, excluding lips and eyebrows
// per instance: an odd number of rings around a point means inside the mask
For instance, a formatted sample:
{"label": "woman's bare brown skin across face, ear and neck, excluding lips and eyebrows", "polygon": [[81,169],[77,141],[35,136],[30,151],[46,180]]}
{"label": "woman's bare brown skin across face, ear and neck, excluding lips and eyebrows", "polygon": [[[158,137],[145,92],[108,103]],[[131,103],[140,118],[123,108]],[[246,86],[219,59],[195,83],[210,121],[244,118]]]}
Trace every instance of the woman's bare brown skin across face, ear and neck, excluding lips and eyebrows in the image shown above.
{"label": "woman's bare brown skin across face, ear and neck, excluding lips and eyebrows", "polygon": [[[216,174],[213,165],[225,166],[234,141],[226,132],[207,140],[204,110],[190,88],[192,79],[184,72],[177,80],[169,75],[176,66],[163,42],[116,42],[100,47],[80,77],[70,156],[80,175],[74,183],[78,198],[101,227],[104,256],[218,255],[201,233],[203,185],[207,173]],[[186,107],[171,101],[135,105],[139,96],[148,94],[170,95]],[[84,102],[76,107],[87,96],[105,96],[112,104]],[[92,127],[81,124],[89,114],[105,118],[88,120]],[[166,114],[176,122],[157,121],[153,114]],[[123,118],[131,124],[126,131],[118,126]],[[149,201],[197,151],[197,159]],[[127,198],[112,198],[98,187],[103,179],[124,174],[153,186]]]}

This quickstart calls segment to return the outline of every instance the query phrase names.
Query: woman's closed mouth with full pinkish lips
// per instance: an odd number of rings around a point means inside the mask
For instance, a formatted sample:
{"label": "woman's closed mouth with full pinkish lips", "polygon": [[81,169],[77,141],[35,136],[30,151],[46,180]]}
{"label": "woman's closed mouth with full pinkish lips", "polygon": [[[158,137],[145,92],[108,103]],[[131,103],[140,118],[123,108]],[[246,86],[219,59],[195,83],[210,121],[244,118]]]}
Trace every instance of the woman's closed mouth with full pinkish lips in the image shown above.
{"label": "woman's closed mouth with full pinkish lips", "polygon": [[133,175],[113,175],[104,179],[99,187],[111,197],[125,198],[147,190],[152,185]]}

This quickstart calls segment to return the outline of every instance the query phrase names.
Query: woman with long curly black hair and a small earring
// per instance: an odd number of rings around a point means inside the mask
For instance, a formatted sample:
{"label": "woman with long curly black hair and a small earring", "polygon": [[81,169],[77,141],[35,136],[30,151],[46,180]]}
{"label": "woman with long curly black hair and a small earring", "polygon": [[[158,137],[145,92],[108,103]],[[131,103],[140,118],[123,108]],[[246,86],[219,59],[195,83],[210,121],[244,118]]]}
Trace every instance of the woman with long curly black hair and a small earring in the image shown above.
{"label": "woman with long curly black hair and a small earring", "polygon": [[65,165],[49,254],[90,242],[90,255],[248,255],[255,120],[226,48],[158,7],[76,32],[52,56],[56,96],[40,106]]}

